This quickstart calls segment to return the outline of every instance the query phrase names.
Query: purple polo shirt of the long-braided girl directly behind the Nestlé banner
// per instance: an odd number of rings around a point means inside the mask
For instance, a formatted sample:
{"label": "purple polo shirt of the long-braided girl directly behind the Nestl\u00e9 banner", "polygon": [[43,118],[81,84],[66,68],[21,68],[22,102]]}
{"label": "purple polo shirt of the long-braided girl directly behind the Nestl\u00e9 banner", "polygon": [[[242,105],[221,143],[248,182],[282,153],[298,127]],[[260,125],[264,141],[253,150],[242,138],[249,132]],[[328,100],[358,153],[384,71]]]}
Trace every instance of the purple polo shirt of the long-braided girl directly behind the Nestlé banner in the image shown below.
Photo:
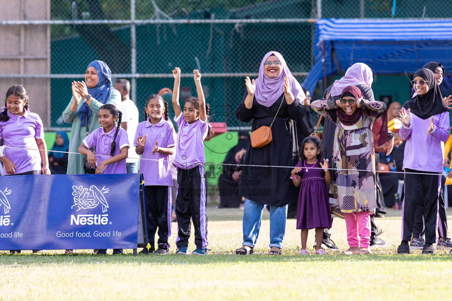
{"label": "purple polo shirt of the long-braided girl directly behind the Nestl\u00e9 banner", "polygon": [[[113,130],[105,134],[104,128],[100,127],[99,129],[92,131],[90,134],[88,134],[88,136],[86,136],[85,139],[83,139],[83,143],[87,148],[92,148],[93,146],[96,147],[96,158],[98,161],[98,166],[100,162],[111,158],[110,150],[117,128],[118,126],[115,125]],[[116,156],[118,153],[121,153],[121,148],[125,146],[127,146],[127,148],[130,147],[129,139],[127,137],[127,132],[121,128],[119,129],[118,136],[116,136],[116,150],[114,152],[114,155]],[[108,157],[98,155],[108,155]],[[112,173],[127,173],[126,159],[105,165],[102,174]]]}

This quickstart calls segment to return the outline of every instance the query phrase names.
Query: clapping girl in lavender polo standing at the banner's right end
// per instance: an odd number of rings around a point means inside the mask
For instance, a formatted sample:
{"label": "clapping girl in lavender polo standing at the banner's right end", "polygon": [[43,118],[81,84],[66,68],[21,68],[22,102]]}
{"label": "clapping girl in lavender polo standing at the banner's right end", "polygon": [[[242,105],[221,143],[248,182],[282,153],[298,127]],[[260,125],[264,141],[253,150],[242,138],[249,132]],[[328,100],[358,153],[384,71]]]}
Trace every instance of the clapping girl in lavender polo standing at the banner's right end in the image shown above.
{"label": "clapping girl in lavender polo standing at the banner's right end", "polygon": [[[162,116],[163,115],[163,116]],[[141,253],[168,254],[171,236],[171,174],[170,155],[174,154],[173,125],[168,121],[168,103],[152,94],[146,100],[144,119],[137,126],[135,152],[141,155],[140,173],[144,176],[147,231],[150,249]],[[151,141],[146,143],[149,137]],[[155,143],[154,143],[155,141]],[[155,251],[155,232],[159,228],[158,249]]]}

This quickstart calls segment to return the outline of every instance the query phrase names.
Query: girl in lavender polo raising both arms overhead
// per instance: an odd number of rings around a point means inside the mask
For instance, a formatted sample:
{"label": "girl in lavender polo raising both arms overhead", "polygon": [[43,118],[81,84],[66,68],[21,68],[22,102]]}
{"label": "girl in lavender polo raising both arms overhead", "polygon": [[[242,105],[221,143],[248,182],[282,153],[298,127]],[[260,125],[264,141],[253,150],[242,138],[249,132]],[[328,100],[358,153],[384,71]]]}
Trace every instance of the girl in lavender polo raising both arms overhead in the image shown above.
{"label": "girl in lavender polo raising both arms overhead", "polygon": [[188,238],[191,233],[191,220],[195,228],[196,249],[192,254],[207,254],[207,212],[206,181],[204,178],[203,141],[213,136],[208,125],[209,106],[205,103],[201,87],[201,74],[193,70],[193,78],[198,97],[190,97],[184,102],[184,112],[179,105],[180,69],[173,70],[173,107],[179,132],[174,165],[177,167],[176,218],[178,238],[176,254],[189,254]]}

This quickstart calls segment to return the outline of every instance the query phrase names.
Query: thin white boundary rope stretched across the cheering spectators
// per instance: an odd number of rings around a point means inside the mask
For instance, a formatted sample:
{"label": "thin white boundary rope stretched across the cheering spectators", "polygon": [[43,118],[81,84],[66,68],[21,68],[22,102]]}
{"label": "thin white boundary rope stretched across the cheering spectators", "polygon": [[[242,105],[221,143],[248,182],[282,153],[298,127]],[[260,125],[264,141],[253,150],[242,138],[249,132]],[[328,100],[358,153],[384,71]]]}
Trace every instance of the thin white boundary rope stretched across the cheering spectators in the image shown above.
{"label": "thin white boundary rope stretched across the cheering spectators", "polygon": [[[16,148],[12,146],[5,146],[5,148]],[[17,148],[17,149],[29,149],[29,150],[37,150],[37,151],[44,151],[44,152],[53,152],[53,153],[73,153],[73,152],[61,152],[61,151],[52,151],[52,150],[44,150],[44,149],[37,149],[37,148]],[[76,155],[82,155],[81,153],[73,153]],[[95,156],[103,156],[103,157],[111,157],[110,155],[99,155],[95,154]],[[127,157],[129,158],[129,157]],[[137,159],[137,158],[130,158],[130,159]],[[164,162],[173,162],[171,160],[159,160],[159,159],[146,159],[146,158],[139,158],[139,160],[150,160],[150,161],[164,161]],[[247,167],[277,167],[277,168],[295,168],[295,166],[275,166],[275,165],[253,165],[253,164],[228,164],[228,163],[210,163],[210,162],[204,162],[201,163],[204,165],[228,165],[228,166],[247,166]],[[442,175],[442,172],[437,173],[427,173],[427,172],[407,172],[407,171],[369,171],[367,169],[338,169],[338,168],[322,168],[322,167],[309,167],[310,169],[329,169],[329,170],[339,170],[339,171],[367,171],[367,172],[381,172],[381,173],[401,173],[401,174],[413,174],[413,175],[419,175],[419,173],[422,173],[423,175],[431,175],[431,176],[439,176]],[[433,171],[432,171],[433,172]]]}

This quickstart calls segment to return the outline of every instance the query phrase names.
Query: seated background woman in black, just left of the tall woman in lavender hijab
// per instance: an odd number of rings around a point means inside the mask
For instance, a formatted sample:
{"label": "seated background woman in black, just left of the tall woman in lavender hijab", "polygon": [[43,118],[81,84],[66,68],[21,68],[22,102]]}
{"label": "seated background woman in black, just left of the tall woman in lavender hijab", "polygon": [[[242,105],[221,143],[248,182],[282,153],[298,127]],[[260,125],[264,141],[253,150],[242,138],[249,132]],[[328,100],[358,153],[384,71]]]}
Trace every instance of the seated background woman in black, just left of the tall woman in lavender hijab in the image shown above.
{"label": "seated background woman in black, just left of the tall woman in lavender hijab", "polygon": [[[239,142],[231,148],[226,155],[225,164],[243,164],[246,148],[250,142],[248,131],[239,131]],[[239,178],[242,172],[241,165],[223,165],[223,173],[218,178],[221,204],[218,208],[239,208],[242,197],[237,191]]]}

